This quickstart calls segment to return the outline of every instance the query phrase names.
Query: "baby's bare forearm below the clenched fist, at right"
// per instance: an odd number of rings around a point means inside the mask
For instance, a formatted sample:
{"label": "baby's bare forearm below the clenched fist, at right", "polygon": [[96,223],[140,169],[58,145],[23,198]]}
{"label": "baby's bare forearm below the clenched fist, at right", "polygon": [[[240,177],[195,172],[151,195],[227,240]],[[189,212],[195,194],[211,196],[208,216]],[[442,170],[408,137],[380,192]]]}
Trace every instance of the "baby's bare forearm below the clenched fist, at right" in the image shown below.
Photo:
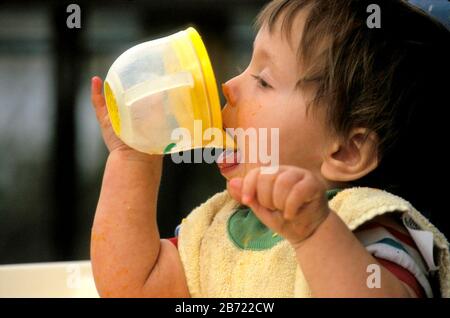
{"label": "baby's bare forearm below the clenched fist, at right", "polygon": [[[417,297],[367,252],[334,212],[296,249],[296,255],[316,297]],[[380,285],[371,288],[367,282],[374,264]]]}

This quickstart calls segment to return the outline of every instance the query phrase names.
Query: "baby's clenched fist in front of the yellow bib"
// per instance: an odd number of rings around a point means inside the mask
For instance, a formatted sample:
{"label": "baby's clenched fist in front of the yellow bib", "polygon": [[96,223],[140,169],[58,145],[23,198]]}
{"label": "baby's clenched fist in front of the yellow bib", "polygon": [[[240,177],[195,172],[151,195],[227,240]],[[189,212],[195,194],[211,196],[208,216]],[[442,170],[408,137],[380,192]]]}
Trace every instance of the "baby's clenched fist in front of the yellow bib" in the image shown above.
{"label": "baby's clenched fist in front of the yellow bib", "polygon": [[249,206],[272,231],[297,248],[330,213],[326,186],[310,171],[280,166],[275,174],[252,169],[229,182],[230,195]]}

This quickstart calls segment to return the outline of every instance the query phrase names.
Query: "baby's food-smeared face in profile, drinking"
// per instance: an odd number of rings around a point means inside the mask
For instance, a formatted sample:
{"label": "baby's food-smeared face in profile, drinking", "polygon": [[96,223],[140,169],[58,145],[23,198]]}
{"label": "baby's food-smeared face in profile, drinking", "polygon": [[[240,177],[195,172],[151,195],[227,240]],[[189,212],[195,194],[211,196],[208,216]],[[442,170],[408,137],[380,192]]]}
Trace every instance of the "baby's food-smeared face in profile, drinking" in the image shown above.
{"label": "baby's food-smeared face in profile, drinking", "polygon": [[[296,25],[294,30],[299,28],[301,25]],[[272,33],[267,27],[261,28],[249,66],[224,84],[227,103],[222,110],[223,124],[224,128],[244,130],[265,128],[268,129],[267,136],[270,136],[271,128],[278,128],[279,140],[271,142],[279,142],[279,165],[299,166],[320,176],[322,159],[330,141],[324,124],[325,115],[320,109],[306,111],[310,96],[296,87],[301,69],[296,47],[289,42],[279,27]],[[264,161],[259,159],[250,162],[251,146],[257,145],[245,144],[242,163],[221,170],[227,180],[243,177],[252,168],[263,165],[261,162]],[[269,143],[268,154],[271,149],[274,147]]]}

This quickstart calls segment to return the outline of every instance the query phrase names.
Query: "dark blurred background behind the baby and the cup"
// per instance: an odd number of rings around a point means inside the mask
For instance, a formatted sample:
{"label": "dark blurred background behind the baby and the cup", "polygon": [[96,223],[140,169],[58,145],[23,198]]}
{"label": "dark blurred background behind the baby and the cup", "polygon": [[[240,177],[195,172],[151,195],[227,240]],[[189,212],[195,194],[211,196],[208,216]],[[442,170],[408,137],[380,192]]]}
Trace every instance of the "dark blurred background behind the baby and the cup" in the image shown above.
{"label": "dark blurred background behind the baby and the cup", "polygon": [[[89,258],[90,229],[107,157],[90,104],[90,79],[121,52],[195,26],[218,83],[250,60],[253,19],[265,0],[0,3],[0,264]],[[411,1],[450,26],[446,0]],[[222,100],[223,101],[223,100]],[[158,202],[162,237],[225,188],[215,165],[166,156]]]}

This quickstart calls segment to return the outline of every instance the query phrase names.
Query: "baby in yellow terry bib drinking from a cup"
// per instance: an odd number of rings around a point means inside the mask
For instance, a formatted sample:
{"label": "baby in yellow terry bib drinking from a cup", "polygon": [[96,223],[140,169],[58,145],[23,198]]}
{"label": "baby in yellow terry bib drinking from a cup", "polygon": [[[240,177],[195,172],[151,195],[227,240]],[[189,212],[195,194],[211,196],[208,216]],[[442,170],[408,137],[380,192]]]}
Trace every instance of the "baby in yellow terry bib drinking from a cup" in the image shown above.
{"label": "baby in yellow terry bib drinking from a cup", "polygon": [[445,237],[384,191],[404,177],[396,159],[420,110],[447,102],[425,91],[443,85],[421,59],[445,61],[449,32],[400,0],[378,1],[369,27],[371,2],[275,0],[259,14],[251,62],[223,86],[223,124],[278,128],[280,165],[227,153],[226,190],[175,239],[156,222],[162,156],[114,135],[92,79],[109,149],[91,242],[101,296],[450,296]]}

